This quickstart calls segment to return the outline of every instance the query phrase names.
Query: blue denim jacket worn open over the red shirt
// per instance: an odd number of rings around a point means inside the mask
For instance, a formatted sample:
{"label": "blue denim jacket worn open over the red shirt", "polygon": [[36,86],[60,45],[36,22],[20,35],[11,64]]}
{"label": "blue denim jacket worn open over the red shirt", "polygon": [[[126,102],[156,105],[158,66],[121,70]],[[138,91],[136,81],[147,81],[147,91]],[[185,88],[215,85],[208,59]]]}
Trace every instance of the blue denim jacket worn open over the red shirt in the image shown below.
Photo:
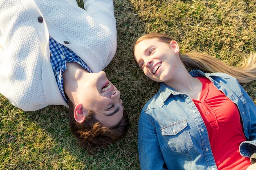
{"label": "blue denim jacket worn open over the red shirt", "polygon": [[[225,73],[190,72],[207,77],[237,106],[247,141],[240,154],[256,152],[256,106],[236,78]],[[232,122],[231,122],[232,123]],[[207,128],[189,95],[162,83],[141,110],[138,131],[141,170],[217,170]]]}

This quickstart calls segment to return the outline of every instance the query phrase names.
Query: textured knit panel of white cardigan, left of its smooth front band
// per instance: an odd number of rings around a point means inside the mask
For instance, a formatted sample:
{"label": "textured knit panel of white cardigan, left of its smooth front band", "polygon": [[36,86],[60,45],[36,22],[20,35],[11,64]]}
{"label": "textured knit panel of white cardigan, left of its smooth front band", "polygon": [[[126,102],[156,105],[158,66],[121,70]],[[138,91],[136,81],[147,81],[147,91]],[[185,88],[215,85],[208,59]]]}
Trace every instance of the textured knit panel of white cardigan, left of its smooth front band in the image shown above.
{"label": "textured knit panel of white cardigan, left of its smooth front band", "polygon": [[16,103],[22,110],[36,110],[46,104],[42,86],[43,52],[39,39],[35,38],[37,31],[33,20],[22,4],[12,2],[0,2],[1,46],[6,55],[0,57],[8,57],[5,74],[12,82]]}

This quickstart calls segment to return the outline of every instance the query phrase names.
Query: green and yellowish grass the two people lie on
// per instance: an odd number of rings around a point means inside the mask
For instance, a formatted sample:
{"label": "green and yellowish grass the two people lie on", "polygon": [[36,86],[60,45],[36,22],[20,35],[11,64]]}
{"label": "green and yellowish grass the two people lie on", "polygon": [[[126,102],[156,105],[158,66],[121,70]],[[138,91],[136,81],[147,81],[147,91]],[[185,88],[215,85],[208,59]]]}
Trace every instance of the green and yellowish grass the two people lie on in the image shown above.
{"label": "green and yellowish grass the two people lie on", "polygon": [[[233,66],[256,51],[256,0],[114,0],[114,6],[117,53],[105,71],[130,117],[126,137],[89,156],[69,131],[67,108],[24,113],[0,95],[0,170],[138,170],[139,113],[159,87],[132,60],[132,45],[145,33],[167,33],[182,53],[209,53]],[[256,103],[256,81],[243,87]]]}

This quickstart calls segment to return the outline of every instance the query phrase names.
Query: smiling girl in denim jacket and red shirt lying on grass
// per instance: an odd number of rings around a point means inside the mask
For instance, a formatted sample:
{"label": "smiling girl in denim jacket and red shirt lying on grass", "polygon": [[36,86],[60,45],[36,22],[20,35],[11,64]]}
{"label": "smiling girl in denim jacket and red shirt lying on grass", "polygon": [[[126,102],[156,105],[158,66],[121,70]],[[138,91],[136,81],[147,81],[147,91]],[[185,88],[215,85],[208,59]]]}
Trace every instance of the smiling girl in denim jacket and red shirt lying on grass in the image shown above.
{"label": "smiling girl in denim jacket and red shirt lying on grass", "polygon": [[133,57],[147,77],[163,82],[141,110],[141,170],[256,168],[256,106],[238,83],[256,79],[256,55],[234,68],[206,54],[180,55],[168,35],[150,33],[137,40]]}

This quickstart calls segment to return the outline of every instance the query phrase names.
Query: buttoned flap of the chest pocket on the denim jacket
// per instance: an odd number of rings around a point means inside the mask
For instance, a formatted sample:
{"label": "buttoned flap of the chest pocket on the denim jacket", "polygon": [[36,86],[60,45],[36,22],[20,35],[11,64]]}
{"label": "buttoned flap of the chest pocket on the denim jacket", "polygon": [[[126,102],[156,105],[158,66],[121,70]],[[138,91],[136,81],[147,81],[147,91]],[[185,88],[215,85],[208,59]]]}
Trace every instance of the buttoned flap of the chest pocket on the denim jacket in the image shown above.
{"label": "buttoned flap of the chest pocket on the denim jacket", "polygon": [[180,120],[180,121],[175,121],[171,124],[168,124],[164,127],[161,128],[161,133],[163,136],[165,135],[176,135],[179,133],[181,130],[186,128],[188,125],[186,123],[186,119]]}

